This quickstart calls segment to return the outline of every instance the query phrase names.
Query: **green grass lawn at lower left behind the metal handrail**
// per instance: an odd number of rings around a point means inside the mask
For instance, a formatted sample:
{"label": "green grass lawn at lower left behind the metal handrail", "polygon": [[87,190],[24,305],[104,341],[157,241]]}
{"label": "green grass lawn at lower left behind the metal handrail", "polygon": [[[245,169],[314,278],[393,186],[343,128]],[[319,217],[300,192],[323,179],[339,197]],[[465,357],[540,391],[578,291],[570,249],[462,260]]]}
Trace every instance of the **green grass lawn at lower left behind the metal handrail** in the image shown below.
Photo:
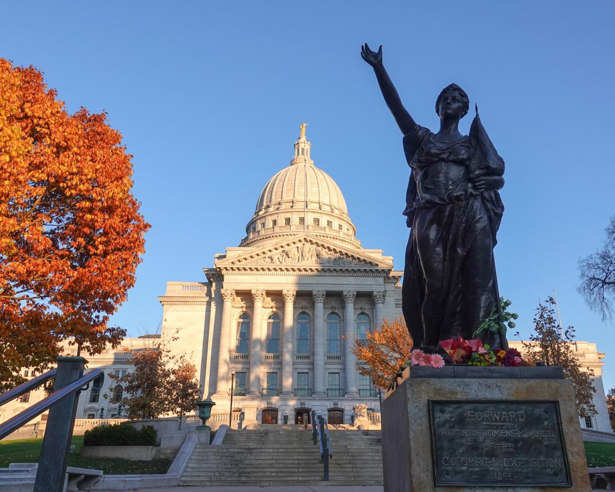
{"label": "green grass lawn at lower left behind the metal handrail", "polygon": [[[81,458],[79,450],[83,445],[83,436],[73,437],[71,445],[74,453],[69,454],[68,466],[103,470],[105,475],[135,475],[162,474],[171,466],[168,459],[153,459],[152,461],[129,461],[117,458]],[[0,468],[6,468],[10,463],[35,463],[41,455],[42,439],[21,439],[0,441]]]}

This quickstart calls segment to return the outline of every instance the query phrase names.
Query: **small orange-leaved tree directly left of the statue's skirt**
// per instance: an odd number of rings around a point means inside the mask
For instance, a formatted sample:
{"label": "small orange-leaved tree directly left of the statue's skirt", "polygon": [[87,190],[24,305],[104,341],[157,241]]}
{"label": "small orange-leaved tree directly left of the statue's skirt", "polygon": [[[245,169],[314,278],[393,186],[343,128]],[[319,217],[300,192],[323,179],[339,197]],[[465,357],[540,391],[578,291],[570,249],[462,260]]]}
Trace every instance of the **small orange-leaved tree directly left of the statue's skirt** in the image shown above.
{"label": "small orange-leaved tree directly left of the statue's skirt", "polygon": [[392,322],[383,320],[383,325],[365,340],[355,339],[352,353],[362,364],[357,365],[359,374],[370,376],[374,386],[386,389],[400,367],[410,359],[412,338],[402,317]]}

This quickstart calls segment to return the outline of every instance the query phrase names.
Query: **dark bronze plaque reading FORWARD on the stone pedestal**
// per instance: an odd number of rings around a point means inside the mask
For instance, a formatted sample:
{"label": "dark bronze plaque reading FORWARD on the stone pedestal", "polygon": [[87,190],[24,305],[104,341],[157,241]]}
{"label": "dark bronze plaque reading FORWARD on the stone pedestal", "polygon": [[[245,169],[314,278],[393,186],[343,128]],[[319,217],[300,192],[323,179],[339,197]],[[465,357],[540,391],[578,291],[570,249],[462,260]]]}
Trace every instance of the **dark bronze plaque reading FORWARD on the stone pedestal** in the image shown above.
{"label": "dark bronze plaque reading FORWARD on the stone pedestal", "polygon": [[430,400],[435,485],[571,486],[551,400]]}

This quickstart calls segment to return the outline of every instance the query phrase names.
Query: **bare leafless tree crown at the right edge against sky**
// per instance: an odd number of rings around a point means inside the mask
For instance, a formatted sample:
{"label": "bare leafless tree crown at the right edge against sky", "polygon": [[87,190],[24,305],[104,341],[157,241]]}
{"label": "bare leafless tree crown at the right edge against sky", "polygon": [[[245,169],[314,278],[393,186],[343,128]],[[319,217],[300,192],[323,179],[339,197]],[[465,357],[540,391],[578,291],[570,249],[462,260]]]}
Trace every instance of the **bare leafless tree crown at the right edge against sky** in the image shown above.
{"label": "bare leafless tree crown at the right edge against sky", "polygon": [[579,260],[579,293],[592,311],[606,322],[613,317],[615,300],[615,215],[605,229],[605,244],[594,253]]}

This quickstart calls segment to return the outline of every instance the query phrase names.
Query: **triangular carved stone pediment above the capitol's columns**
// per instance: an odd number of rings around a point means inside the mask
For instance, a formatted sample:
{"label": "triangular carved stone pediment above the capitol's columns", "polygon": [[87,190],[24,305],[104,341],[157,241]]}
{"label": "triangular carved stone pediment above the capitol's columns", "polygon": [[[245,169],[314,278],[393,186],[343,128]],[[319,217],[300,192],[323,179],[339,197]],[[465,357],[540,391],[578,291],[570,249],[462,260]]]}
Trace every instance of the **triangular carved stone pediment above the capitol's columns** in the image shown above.
{"label": "triangular carved stone pediment above the capitol's columns", "polygon": [[[239,250],[240,251],[237,251]],[[392,264],[373,252],[346,248],[320,237],[301,234],[266,246],[233,248],[226,258],[216,261],[216,268],[324,268],[391,269]]]}

